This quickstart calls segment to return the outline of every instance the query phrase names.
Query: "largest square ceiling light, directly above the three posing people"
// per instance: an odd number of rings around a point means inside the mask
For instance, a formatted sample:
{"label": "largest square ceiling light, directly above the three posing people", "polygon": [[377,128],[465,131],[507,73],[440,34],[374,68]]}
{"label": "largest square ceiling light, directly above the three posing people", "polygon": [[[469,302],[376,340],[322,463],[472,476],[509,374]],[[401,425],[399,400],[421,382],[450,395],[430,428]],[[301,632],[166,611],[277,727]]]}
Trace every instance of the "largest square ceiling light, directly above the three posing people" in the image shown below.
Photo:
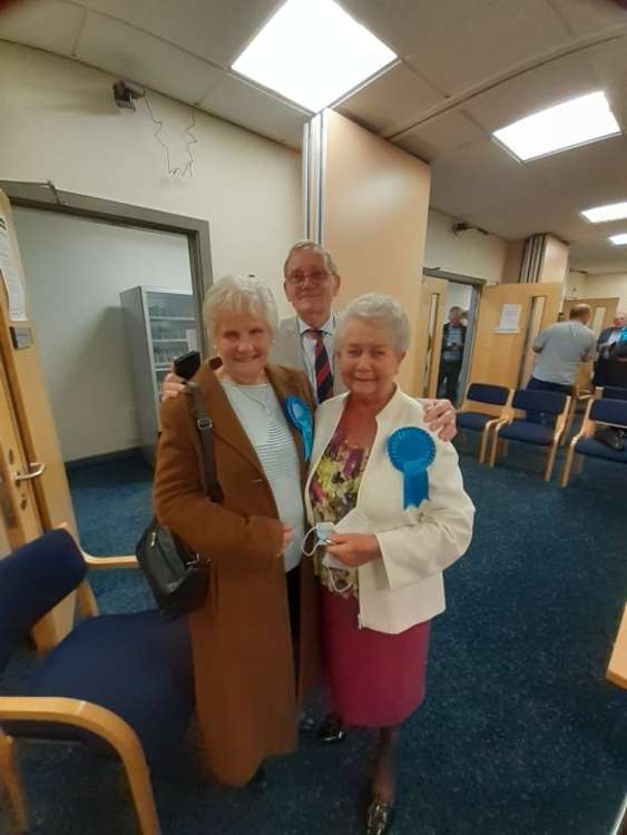
{"label": "largest square ceiling light, directly above the three posing people", "polygon": [[287,0],[233,69],[319,112],[395,59],[333,0]]}

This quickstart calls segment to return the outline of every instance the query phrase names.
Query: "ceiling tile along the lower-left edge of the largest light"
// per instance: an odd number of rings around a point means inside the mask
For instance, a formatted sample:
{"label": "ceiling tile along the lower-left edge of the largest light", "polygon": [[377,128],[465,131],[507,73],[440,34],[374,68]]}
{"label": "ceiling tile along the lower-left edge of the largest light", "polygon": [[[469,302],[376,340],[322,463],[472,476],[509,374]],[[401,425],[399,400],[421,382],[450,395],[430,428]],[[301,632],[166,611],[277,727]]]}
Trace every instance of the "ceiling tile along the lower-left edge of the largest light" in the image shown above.
{"label": "ceiling tile along the lower-left edge of the largest light", "polygon": [[200,102],[200,107],[292,148],[301,147],[303,125],[311,117],[311,114],[297,110],[229,73]]}

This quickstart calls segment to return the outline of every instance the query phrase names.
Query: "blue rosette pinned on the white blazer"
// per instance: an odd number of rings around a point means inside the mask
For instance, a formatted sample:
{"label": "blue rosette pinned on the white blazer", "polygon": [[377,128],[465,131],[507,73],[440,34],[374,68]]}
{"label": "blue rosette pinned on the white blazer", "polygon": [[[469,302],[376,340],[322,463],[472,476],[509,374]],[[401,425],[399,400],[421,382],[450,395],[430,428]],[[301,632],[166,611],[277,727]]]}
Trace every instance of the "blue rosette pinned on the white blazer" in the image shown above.
{"label": "blue rosette pinned on the white blazer", "polygon": [[435,443],[418,426],[398,429],[388,439],[388,454],[396,470],[403,473],[403,509],[418,507],[429,499],[427,469],[435,459]]}

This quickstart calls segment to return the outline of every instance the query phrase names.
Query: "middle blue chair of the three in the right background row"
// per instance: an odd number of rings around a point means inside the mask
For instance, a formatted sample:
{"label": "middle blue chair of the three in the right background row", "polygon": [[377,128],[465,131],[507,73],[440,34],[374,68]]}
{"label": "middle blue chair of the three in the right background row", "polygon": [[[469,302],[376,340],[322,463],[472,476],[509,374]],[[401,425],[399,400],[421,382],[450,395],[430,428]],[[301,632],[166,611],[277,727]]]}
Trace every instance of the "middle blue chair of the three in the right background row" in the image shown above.
{"label": "middle blue chair of the three in the right background row", "polygon": [[[490,466],[497,461],[499,441],[521,441],[535,446],[546,446],[548,450],[545,481],[550,481],[557,455],[559,440],[566,429],[570,397],[560,392],[529,391],[519,389],[511,401],[512,410],[499,421],[494,429]],[[522,412],[541,412],[555,419],[555,426],[531,423],[525,418],[517,418],[513,410]]]}

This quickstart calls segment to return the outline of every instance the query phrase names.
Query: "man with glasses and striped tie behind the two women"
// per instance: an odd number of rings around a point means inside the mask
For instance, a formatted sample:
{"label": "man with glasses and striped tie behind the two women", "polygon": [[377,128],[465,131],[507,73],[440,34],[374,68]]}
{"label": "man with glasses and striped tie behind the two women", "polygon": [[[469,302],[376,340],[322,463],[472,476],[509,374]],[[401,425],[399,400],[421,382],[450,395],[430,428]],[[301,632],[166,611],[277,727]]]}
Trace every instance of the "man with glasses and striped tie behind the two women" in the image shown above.
{"label": "man with glasses and striped tie behind the two women", "polygon": [[[294,308],[275,333],[270,361],[304,371],[319,402],[345,391],[335,374],[335,325],[333,299],[340,289],[340,274],[331,253],[313,240],[300,240],[287,253],[283,265],[283,288]],[[164,400],[183,391],[184,381],[166,376]],[[424,401],[424,419],[443,441],[457,434],[455,411],[448,400]]]}

